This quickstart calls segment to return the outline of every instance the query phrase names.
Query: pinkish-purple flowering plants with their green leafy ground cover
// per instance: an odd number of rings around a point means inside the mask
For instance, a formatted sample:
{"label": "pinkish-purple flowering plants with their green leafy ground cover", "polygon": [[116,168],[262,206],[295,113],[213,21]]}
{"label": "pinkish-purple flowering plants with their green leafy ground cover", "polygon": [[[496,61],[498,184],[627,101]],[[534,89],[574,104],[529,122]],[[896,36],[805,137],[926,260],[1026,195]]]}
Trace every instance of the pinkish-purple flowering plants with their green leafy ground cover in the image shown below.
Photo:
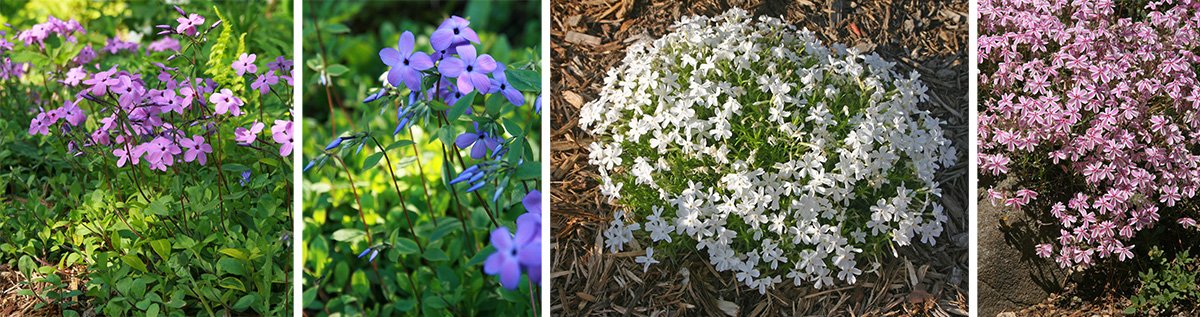
{"label": "pinkish-purple flowering plants with their green leafy ground cover", "polygon": [[6,313],[290,315],[290,6],[13,5]]}

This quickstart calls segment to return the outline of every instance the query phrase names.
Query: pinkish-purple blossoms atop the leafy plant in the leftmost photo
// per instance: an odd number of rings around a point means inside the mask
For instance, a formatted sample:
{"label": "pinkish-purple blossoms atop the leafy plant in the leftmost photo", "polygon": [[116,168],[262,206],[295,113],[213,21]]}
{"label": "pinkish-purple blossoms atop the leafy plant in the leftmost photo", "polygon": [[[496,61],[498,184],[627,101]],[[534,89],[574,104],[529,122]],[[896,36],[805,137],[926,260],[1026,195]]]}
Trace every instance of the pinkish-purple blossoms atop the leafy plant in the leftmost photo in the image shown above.
{"label": "pinkish-purple blossoms atop the leafy plant in the leftmost photo", "polygon": [[[160,35],[179,35],[191,43],[205,41],[203,38],[205,34],[194,29],[197,23],[204,22],[204,18],[196,13],[188,16],[182,10],[178,11],[190,18],[180,18],[181,24],[176,28],[160,25],[161,29],[166,29]],[[17,37],[26,46],[32,46],[42,44],[49,34],[70,37],[77,31],[86,32],[74,20],[66,23],[50,17],[47,23],[22,31]],[[68,38],[68,41],[74,40]],[[151,43],[148,54],[150,50],[178,52],[179,42],[172,37],[163,37]],[[114,37],[102,52],[116,54],[122,49],[137,50],[138,47],[140,44],[122,42]],[[172,60],[176,62],[185,60],[176,59],[178,56],[179,53],[170,55],[167,58],[167,64]],[[253,54],[250,56],[253,61]],[[76,151],[74,155],[110,154],[118,167],[142,165],[149,169],[167,171],[178,162],[206,165],[214,152],[210,142],[222,139],[222,136],[214,133],[218,133],[222,124],[244,114],[241,107],[246,102],[229,88],[221,88],[210,78],[191,77],[180,67],[162,62],[154,62],[156,67],[134,70],[122,70],[121,65],[112,65],[108,70],[103,70],[100,64],[84,64],[96,58],[98,54],[91,50],[90,46],[84,47],[76,59],[62,67],[68,70],[65,74],[49,74],[61,76],[58,82],[77,89],[77,92],[61,107],[32,109],[36,115],[29,124],[29,134],[58,134],[68,142],[67,148]],[[277,61],[269,65],[271,73],[263,76],[270,78],[262,80],[264,82],[262,86],[254,86],[264,91],[263,94],[270,91],[272,84],[278,83],[278,77],[274,77],[276,71],[287,74],[292,72],[290,60],[280,56]],[[228,67],[238,68],[238,66],[235,62]],[[242,65],[242,67],[248,66]],[[290,76],[284,77],[290,86]],[[89,118],[95,120],[94,125],[85,125]],[[85,131],[85,128],[92,130]],[[252,130],[238,128],[235,139],[241,142],[239,145],[254,146],[253,143],[262,130],[260,122],[253,124]],[[278,154],[290,155],[292,120],[275,120],[271,134],[275,145],[278,146]]]}

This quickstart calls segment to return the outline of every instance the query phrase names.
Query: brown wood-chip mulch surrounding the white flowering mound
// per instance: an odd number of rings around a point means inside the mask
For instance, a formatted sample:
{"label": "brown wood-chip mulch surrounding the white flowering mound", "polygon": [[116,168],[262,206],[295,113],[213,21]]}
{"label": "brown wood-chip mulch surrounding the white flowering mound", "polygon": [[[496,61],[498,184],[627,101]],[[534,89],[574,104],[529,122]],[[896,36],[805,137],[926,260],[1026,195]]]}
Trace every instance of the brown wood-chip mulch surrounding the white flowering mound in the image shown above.
{"label": "brown wood-chip mulch surrounding the white flowering mound", "polygon": [[[600,199],[587,163],[592,136],[580,108],[596,97],[608,67],[629,44],[659,38],[692,14],[742,7],[782,17],[827,43],[878,53],[896,72],[916,70],[930,88],[922,104],[948,121],[959,161],[938,180],[949,223],[936,246],[901,250],[878,275],[852,287],[816,291],[785,282],[760,295],[718,274],[700,255],[637,273],[634,253],[602,250],[617,208]],[[551,2],[551,311],[554,315],[966,315],[967,307],[967,1],[583,0]],[[636,246],[635,246],[636,249]],[[688,276],[680,274],[686,269]],[[688,282],[684,282],[688,280]]]}

